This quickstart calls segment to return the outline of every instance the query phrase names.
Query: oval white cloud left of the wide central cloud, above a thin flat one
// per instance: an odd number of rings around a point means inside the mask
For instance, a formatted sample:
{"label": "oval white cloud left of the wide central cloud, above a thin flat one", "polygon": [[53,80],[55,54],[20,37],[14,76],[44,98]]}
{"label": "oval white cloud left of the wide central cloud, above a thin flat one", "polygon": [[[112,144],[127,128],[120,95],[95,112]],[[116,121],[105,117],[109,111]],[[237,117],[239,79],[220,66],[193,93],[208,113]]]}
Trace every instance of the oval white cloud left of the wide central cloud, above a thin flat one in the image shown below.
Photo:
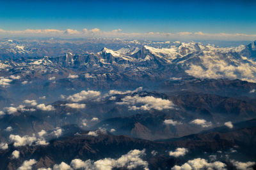
{"label": "oval white cloud left of the wide central cloud, above a thin flat one", "polygon": [[67,99],[73,102],[79,102],[83,100],[95,99],[100,96],[100,92],[93,90],[82,90],[81,92],[74,94],[72,96],[68,96]]}

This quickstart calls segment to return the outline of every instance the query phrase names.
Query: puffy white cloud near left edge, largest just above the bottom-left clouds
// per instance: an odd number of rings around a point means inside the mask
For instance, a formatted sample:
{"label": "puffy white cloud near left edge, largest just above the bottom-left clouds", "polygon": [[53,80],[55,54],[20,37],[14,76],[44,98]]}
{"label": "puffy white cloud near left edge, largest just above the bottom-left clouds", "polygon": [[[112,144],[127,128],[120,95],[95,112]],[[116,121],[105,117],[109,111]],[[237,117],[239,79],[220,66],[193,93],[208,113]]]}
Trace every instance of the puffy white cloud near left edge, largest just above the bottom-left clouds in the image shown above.
{"label": "puffy white cloud near left edge, largest just above the bottom-left clouds", "polygon": [[28,135],[20,137],[19,135],[11,134],[9,138],[12,142],[14,142],[13,146],[15,147],[32,145],[32,143],[36,141],[35,136],[28,136]]}

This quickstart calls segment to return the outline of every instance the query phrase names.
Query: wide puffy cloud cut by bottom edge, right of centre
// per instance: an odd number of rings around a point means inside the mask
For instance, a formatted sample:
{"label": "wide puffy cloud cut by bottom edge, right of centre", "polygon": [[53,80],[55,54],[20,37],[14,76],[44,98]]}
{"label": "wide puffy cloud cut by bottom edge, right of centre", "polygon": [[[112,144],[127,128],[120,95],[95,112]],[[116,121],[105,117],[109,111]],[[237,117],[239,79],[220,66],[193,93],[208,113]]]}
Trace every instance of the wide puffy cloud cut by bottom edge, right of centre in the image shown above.
{"label": "wide puffy cloud cut by bottom edge, right of centre", "polygon": [[226,164],[224,164],[223,162],[220,161],[216,161],[216,162],[207,162],[207,160],[205,159],[193,159],[193,160],[189,160],[188,162],[186,162],[185,164],[183,164],[182,166],[174,166],[172,167],[173,170],[198,170],[198,169],[226,169]]}

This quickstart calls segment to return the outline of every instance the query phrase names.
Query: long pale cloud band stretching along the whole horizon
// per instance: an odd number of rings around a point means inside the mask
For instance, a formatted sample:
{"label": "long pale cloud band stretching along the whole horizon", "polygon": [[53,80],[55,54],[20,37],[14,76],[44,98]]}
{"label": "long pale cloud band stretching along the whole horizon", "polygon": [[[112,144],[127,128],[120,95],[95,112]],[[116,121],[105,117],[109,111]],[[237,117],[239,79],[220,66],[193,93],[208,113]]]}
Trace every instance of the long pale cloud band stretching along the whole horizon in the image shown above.
{"label": "long pale cloud band stretching along the whole horizon", "polygon": [[225,41],[254,41],[256,34],[227,34],[215,33],[209,34],[204,32],[123,32],[121,29],[114,29],[113,31],[101,31],[98,28],[82,31],[75,29],[57,30],[57,29],[26,29],[25,31],[5,31],[0,29],[0,37],[56,37],[56,38],[122,38],[122,39],[149,39],[149,40],[163,40],[170,39],[186,39],[186,40],[225,40]]}

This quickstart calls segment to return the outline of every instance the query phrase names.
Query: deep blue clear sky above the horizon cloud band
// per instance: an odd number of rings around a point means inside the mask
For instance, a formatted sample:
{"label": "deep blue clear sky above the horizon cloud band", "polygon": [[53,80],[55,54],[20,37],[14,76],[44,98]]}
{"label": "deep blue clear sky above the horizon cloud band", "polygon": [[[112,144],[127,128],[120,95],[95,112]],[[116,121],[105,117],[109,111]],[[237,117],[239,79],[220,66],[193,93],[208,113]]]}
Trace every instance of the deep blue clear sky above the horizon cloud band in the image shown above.
{"label": "deep blue clear sky above the horizon cloud band", "polygon": [[0,29],[256,34],[255,1],[1,1]]}

